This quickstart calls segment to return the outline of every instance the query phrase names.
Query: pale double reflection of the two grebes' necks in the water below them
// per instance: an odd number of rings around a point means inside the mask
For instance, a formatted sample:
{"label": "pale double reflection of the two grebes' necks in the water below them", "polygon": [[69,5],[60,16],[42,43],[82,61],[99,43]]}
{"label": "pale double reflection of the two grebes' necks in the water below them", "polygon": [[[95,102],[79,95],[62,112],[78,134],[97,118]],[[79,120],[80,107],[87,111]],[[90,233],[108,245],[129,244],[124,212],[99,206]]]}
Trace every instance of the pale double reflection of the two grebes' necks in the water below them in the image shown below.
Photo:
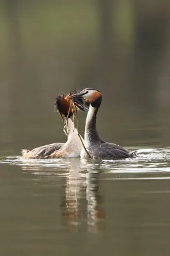
{"label": "pale double reflection of the two grebes' necks in the water below them", "polygon": [[84,217],[87,219],[89,232],[100,232],[104,229],[105,214],[98,192],[98,177],[99,173],[83,174],[79,170],[70,170],[62,204],[63,216],[66,217],[70,232],[79,231]]}

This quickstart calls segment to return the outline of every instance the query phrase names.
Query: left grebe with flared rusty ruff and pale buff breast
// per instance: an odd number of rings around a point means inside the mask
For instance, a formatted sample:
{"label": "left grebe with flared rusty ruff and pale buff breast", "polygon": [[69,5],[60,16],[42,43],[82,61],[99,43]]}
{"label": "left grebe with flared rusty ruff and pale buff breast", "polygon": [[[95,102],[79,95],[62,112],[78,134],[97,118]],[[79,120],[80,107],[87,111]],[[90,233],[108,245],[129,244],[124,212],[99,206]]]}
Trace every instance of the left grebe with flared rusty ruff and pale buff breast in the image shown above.
{"label": "left grebe with flared rusty ruff and pale buff breast", "polygon": [[[65,123],[66,134],[68,136],[66,143],[52,143],[34,148],[33,150],[22,149],[22,157],[24,157],[24,159],[80,157],[82,143],[71,119],[76,109],[73,105],[72,108],[70,108],[70,103],[70,95],[66,95],[66,97],[59,95],[54,101],[54,108],[58,110]],[[75,100],[75,105],[82,110],[87,110],[82,104],[82,97],[78,97],[77,101]]]}

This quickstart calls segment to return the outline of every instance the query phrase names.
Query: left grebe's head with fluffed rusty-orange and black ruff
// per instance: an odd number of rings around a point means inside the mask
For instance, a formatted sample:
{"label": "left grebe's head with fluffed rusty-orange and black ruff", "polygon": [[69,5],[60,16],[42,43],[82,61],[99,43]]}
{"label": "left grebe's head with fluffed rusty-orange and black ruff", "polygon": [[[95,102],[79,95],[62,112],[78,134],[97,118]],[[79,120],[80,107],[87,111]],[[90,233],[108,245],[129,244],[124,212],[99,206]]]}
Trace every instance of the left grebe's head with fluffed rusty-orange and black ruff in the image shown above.
{"label": "left grebe's head with fluffed rusty-orange and black ruff", "polygon": [[[75,91],[73,93],[75,93]],[[70,118],[76,111],[75,106],[83,111],[88,111],[88,108],[86,108],[86,106],[83,104],[83,98],[81,96],[77,97],[77,99],[74,101],[74,104],[70,106],[72,101],[71,95],[73,95],[73,93],[68,93],[66,96],[58,95],[58,97],[56,97],[54,100],[54,109],[60,113],[62,118]]]}

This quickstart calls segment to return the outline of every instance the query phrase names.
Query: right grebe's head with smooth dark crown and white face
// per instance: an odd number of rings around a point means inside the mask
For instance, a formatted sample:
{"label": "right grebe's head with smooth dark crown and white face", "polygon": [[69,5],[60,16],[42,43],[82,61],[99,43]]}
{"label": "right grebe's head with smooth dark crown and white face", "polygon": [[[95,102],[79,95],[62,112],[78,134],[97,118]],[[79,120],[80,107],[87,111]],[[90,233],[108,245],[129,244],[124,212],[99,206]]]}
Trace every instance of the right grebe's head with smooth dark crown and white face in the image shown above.
{"label": "right grebe's head with smooth dark crown and white face", "polygon": [[91,104],[92,107],[99,108],[102,102],[102,94],[95,88],[86,88],[79,93],[73,94],[71,98],[75,101],[77,97],[84,97],[86,103]]}

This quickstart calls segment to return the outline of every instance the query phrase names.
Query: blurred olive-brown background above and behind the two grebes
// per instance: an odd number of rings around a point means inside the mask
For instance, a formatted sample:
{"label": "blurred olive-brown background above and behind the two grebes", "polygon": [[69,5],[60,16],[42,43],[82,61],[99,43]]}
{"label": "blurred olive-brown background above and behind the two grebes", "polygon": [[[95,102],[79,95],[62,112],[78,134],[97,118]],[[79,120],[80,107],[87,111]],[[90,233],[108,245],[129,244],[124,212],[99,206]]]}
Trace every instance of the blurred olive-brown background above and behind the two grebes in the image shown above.
{"label": "blurred olive-brown background above and behind the two grebes", "polygon": [[1,154],[65,141],[54,97],[87,87],[104,140],[169,146],[169,19],[167,0],[1,0]]}

